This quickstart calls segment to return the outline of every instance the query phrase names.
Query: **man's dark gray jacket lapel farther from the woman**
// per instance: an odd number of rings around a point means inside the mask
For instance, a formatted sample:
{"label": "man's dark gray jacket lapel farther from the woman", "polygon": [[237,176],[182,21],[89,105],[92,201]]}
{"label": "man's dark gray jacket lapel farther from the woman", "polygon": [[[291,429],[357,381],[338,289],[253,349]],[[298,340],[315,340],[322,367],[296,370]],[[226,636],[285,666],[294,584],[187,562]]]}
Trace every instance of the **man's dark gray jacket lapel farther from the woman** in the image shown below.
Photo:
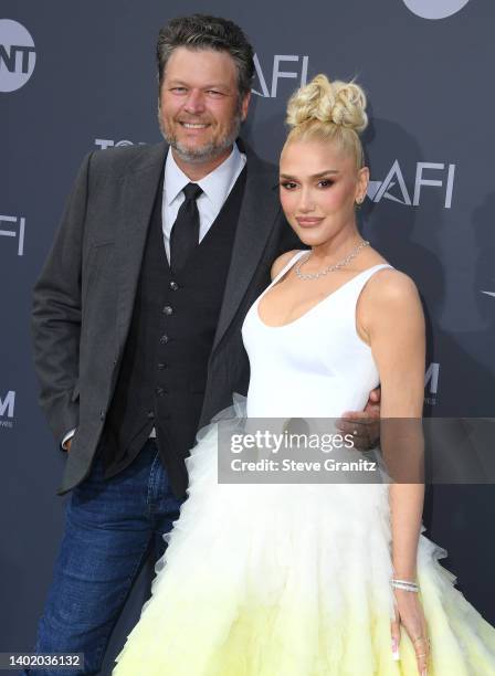
{"label": "man's dark gray jacket lapel farther from the woman", "polygon": [[133,316],[143,253],[151,210],[161,177],[168,146],[146,149],[122,177],[120,228],[117,241],[117,353],[124,344]]}

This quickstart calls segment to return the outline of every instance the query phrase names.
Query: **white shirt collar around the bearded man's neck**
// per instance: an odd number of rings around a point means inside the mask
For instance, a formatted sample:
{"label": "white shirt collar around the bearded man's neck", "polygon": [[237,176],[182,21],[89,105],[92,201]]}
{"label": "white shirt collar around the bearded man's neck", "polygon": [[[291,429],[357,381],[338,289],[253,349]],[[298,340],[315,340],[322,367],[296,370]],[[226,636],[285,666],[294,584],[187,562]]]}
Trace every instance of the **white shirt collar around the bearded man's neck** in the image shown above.
{"label": "white shirt collar around the bearded man's neck", "polygon": [[[232,147],[232,152],[219,167],[217,167],[217,169],[210,171],[210,173],[208,173],[200,181],[194,182],[201,187],[203,193],[213,204],[222,205],[232,187],[234,177],[239,172],[239,167],[241,163],[242,156],[236,144],[234,144]],[[164,177],[165,199],[167,204],[171,204],[183,188],[190,182],[191,180],[178,167],[170,149],[167,152]]]}

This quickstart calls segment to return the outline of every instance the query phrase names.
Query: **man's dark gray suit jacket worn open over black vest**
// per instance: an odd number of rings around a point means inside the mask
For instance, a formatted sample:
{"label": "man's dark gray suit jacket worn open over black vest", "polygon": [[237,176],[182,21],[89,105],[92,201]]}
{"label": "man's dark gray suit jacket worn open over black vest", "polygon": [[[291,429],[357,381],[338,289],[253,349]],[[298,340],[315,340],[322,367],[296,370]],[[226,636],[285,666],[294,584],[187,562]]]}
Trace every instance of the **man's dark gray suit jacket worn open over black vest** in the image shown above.
{"label": "man's dark gray suit jacket worn open over black vest", "polygon": [[[278,201],[278,175],[249,148],[246,183],[220,318],[208,363],[200,426],[246,392],[241,326],[270,282],[277,255],[301,243]],[[88,155],[33,294],[40,404],[59,441],[76,429],[59,493],[88,474],[133,315],[166,144]],[[214,265],[214,261],[212,261]]]}

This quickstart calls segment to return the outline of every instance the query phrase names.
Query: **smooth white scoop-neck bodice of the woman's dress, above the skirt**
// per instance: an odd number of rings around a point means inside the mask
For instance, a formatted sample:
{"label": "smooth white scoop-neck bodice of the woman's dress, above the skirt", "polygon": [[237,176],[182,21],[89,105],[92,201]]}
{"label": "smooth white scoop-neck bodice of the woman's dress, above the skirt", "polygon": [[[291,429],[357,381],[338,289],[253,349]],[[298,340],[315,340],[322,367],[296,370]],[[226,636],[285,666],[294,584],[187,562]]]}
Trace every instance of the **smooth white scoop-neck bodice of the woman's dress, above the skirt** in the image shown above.
{"label": "smooth white scoop-neck bodice of the woman's dress, above the skirt", "polygon": [[390,265],[362,271],[289,324],[271,327],[260,318],[260,299],[305,253],[293,256],[244,319],[249,418],[338,418],[362,410],[379,384],[371,349],[356,331],[356,304],[371,275]]}

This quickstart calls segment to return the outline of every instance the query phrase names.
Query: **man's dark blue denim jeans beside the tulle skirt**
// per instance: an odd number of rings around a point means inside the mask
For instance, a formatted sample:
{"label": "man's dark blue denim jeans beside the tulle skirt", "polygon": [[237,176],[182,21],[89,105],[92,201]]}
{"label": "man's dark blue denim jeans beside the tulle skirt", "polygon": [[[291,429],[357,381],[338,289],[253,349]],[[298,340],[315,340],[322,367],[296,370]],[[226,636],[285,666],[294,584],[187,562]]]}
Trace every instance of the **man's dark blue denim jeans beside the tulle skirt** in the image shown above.
{"label": "man's dark blue denim jeans beside the tulle skirt", "polygon": [[84,653],[84,669],[35,668],[24,674],[98,674],[133,582],[150,548],[157,559],[165,552],[162,536],[178,518],[181,503],[171,492],[155,441],[107,480],[96,460],[67,503],[35,647],[36,653]]}

